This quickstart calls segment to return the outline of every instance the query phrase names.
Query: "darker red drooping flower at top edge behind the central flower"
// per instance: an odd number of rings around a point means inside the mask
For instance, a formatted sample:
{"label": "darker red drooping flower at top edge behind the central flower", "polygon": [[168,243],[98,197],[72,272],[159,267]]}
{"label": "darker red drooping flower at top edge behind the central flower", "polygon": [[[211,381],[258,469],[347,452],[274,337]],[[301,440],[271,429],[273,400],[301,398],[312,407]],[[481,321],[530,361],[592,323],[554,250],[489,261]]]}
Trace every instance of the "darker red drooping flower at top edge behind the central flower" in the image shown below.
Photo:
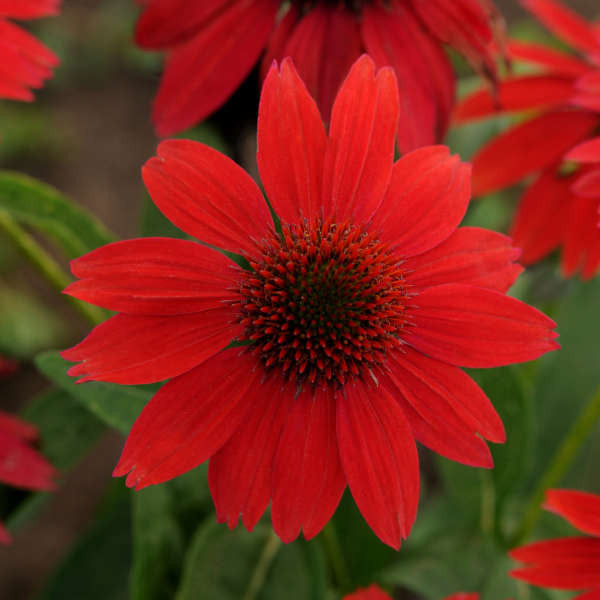
{"label": "darker red drooping flower at top edge behind the central flower", "polygon": [[439,142],[454,102],[454,74],[443,44],[494,77],[492,0],[148,0],[139,46],[168,52],[153,121],[171,135],[219,108],[265,50],[262,75],[289,56],[324,119],[362,52],[391,65],[401,105],[403,151]]}

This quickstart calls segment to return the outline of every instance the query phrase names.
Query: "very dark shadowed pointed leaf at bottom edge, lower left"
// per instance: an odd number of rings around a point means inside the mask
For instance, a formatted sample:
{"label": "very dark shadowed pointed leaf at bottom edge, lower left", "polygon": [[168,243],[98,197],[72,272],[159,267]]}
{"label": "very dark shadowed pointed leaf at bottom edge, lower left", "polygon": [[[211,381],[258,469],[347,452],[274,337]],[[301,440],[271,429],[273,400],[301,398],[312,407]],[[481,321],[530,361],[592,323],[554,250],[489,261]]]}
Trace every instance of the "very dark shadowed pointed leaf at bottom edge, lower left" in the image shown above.
{"label": "very dark shadowed pointed leaf at bottom edge, lower left", "polygon": [[39,600],[128,600],[131,567],[129,493],[114,484],[108,504],[61,564]]}

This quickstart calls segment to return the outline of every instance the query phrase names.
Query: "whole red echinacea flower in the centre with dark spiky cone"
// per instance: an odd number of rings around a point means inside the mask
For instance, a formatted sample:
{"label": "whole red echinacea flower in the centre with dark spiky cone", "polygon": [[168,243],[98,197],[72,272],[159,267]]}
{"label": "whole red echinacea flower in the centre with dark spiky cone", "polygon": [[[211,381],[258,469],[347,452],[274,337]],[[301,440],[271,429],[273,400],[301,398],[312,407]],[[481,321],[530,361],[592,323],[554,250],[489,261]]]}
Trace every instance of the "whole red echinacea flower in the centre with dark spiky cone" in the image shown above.
{"label": "whole red echinacea flower in the centre with dark spiky cone", "polygon": [[[505,295],[509,238],[457,229],[470,167],[443,146],[395,164],[394,73],[364,56],[329,134],[291,61],[266,78],[256,183],[208,146],[170,140],[143,176],[159,209],[211,246],[146,238],[76,259],[66,292],[120,314],[63,353],[80,381],[170,379],[114,474],[137,489],[210,458],[217,518],[252,529],[271,502],[286,542],[316,535],[349,485],[398,548],[415,519],[414,439],[490,467],[500,418],[457,365],[558,347],[548,317]],[[225,348],[232,340],[243,347]],[[224,349],[225,348],[225,349]]]}

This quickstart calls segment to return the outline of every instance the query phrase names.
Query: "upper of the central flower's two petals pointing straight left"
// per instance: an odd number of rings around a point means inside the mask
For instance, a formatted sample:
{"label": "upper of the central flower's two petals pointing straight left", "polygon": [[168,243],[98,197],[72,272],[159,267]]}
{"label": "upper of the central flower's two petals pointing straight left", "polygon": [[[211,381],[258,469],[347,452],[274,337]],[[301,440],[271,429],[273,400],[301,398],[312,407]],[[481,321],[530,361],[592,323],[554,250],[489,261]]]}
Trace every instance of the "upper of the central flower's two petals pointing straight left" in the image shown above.
{"label": "upper of the central flower's two petals pointing straight left", "polygon": [[142,238],[102,246],[71,262],[81,278],[66,294],[135,315],[178,315],[239,299],[239,273],[222,254],[196,242]]}

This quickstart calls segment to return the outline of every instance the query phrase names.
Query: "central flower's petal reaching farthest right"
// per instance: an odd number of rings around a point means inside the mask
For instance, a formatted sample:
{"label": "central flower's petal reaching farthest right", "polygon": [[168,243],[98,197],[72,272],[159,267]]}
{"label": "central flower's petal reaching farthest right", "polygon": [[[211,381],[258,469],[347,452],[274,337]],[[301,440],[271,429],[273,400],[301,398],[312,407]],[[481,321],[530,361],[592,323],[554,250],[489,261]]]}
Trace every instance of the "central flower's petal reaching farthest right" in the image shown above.
{"label": "central flower's petal reaching farthest right", "polygon": [[539,310],[471,285],[428,288],[411,299],[402,338],[424,354],[464,367],[500,367],[556,350],[556,324]]}

